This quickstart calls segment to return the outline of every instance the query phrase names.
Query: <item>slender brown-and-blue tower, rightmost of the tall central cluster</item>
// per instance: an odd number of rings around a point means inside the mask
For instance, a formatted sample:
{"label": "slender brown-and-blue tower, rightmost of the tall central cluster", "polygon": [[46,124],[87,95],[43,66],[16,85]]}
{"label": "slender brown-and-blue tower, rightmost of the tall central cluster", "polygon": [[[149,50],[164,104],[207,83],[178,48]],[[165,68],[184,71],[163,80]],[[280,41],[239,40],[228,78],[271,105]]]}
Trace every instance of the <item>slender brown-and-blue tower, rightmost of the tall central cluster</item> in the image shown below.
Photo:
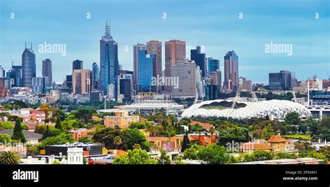
{"label": "slender brown-and-blue tower, rightmost of the tall central cluster", "polygon": [[236,90],[238,86],[238,56],[228,51],[224,56],[224,84],[226,90]]}

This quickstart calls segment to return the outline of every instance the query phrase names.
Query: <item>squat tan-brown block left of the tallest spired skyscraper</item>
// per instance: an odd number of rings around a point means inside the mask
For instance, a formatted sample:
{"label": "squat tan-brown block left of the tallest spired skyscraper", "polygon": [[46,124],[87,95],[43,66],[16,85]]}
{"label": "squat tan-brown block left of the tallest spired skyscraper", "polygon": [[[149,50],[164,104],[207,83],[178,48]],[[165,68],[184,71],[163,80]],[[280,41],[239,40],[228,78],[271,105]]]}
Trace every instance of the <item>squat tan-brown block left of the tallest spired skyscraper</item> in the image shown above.
{"label": "squat tan-brown block left of the tallest spired skyscraper", "polygon": [[74,94],[90,93],[93,87],[91,70],[74,70],[72,73],[72,92]]}

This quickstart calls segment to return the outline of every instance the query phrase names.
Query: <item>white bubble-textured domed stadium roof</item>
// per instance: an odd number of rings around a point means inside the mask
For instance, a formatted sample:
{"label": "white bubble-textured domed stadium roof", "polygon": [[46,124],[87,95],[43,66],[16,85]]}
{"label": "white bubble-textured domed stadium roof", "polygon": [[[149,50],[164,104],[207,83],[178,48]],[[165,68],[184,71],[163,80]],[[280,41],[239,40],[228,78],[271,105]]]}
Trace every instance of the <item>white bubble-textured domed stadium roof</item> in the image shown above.
{"label": "white bubble-textured domed stadium roof", "polygon": [[246,104],[241,108],[225,108],[225,109],[206,109],[200,108],[208,104],[216,102],[233,100],[217,99],[212,101],[203,101],[199,104],[194,104],[184,110],[182,117],[203,116],[203,117],[232,117],[236,119],[246,119],[252,117],[266,117],[271,119],[283,119],[287,113],[297,112],[300,117],[308,117],[311,112],[301,104],[294,103],[287,100],[270,100],[270,101],[256,101],[256,102],[237,102],[237,104]]}

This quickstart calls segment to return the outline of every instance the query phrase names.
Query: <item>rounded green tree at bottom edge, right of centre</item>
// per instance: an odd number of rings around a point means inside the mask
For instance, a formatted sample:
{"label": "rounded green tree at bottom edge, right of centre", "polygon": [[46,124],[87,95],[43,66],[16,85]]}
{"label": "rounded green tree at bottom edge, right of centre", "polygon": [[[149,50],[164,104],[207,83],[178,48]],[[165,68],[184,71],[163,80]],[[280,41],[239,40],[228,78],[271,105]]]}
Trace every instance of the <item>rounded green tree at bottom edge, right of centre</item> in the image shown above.
{"label": "rounded green tree at bottom edge, right of centre", "polygon": [[235,158],[226,152],[226,148],[217,144],[201,147],[197,153],[201,161],[209,164],[228,164],[237,162]]}

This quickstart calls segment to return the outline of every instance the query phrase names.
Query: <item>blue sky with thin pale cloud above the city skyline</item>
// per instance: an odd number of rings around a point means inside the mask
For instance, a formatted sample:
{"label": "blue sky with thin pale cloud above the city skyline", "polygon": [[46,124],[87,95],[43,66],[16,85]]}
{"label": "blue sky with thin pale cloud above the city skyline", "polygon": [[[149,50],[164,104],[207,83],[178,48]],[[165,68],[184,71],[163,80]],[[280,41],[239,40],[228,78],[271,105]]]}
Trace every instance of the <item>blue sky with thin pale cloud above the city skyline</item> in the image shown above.
{"label": "blue sky with thin pale cloud above the city skyline", "polygon": [[[268,73],[280,70],[296,72],[297,79],[313,74],[327,79],[329,7],[327,0],[1,0],[0,65],[10,68],[8,51],[15,64],[21,63],[24,41],[28,45],[32,41],[37,76],[41,76],[42,60],[50,58],[53,80],[61,83],[72,71],[72,60],[83,60],[85,69],[100,63],[100,38],[110,18],[123,69],[133,69],[132,46],[149,40],[163,42],[164,69],[164,42],[177,39],[187,41],[187,58],[198,42],[205,46],[207,57],[220,60],[221,71],[223,56],[234,50],[239,76],[255,83],[267,83]],[[10,13],[15,13],[15,19],[10,19]],[[91,19],[86,19],[86,13],[91,13]],[[38,45],[44,42],[66,44],[66,55],[38,53]],[[265,44],[270,42],[292,44],[292,56],[266,54]]]}

